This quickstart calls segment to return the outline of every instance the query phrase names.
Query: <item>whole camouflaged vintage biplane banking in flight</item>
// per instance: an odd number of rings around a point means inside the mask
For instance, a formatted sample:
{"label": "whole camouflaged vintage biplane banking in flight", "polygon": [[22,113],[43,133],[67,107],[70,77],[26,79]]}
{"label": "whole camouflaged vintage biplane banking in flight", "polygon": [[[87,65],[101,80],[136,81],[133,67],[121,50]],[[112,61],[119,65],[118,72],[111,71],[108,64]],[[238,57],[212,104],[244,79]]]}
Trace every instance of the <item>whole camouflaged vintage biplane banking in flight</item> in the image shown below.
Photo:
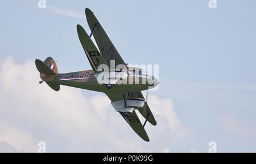
{"label": "whole camouflaged vintage biplane banking in flight", "polygon": [[[39,83],[45,81],[55,91],[60,90],[60,85],[66,85],[105,93],[114,109],[122,115],[130,127],[143,140],[149,141],[144,126],[147,122],[156,126],[156,120],[142,91],[156,87],[159,80],[139,67],[129,67],[89,8],[85,9],[85,15],[91,32],[88,35],[81,25],[77,25],[77,33],[92,70],[60,74],[53,58],[48,57],[44,62],[36,59],[36,68],[42,79]],[[94,45],[92,36],[98,48]],[[110,74],[114,76],[108,76]],[[146,83],[142,83],[143,81]],[[135,110],[144,117],[143,124]]]}

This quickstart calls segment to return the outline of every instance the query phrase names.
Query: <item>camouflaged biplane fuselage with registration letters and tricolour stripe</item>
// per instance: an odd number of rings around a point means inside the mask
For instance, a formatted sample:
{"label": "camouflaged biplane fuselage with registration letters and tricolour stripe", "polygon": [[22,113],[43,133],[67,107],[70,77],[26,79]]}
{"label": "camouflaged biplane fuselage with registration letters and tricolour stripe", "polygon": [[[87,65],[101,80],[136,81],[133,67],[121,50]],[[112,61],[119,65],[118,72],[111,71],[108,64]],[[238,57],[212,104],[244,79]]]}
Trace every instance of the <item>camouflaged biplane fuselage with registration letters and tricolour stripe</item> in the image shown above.
{"label": "camouflaged biplane fuselage with registration letters and tricolour stripe", "polygon": [[[94,72],[93,70],[69,72],[65,74],[57,74],[56,76],[46,76],[40,74],[42,80],[52,83],[66,85],[69,87],[81,88],[94,90],[97,92],[109,92],[110,88],[106,87],[107,83],[102,83],[98,79],[98,75],[101,72]],[[110,75],[111,73],[109,73]],[[117,76],[117,74],[119,76]],[[124,75],[125,74],[125,75]],[[109,83],[113,84],[114,87],[111,91],[118,90],[137,92],[141,90],[147,90],[149,87],[156,87],[159,81],[155,77],[148,75],[131,74],[131,72],[115,72],[114,77],[107,77]]]}

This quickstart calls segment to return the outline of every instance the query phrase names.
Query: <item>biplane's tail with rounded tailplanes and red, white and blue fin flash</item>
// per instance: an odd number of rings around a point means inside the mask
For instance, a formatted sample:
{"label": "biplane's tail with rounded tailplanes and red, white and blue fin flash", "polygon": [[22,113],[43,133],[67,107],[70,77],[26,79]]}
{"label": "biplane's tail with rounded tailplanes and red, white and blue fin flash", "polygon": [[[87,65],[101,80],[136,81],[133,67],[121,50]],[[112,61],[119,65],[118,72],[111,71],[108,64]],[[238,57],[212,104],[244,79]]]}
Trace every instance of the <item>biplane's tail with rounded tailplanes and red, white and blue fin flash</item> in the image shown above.
{"label": "biplane's tail with rounded tailplanes and red, white and blue fin flash", "polygon": [[[56,65],[56,62],[51,58],[48,57],[44,62],[40,61],[39,59],[35,60],[36,68],[40,72],[40,77],[43,79],[43,77],[46,76],[55,76],[58,74],[58,68]],[[53,81],[46,81],[46,83],[55,91],[60,90],[60,84],[54,84]]]}

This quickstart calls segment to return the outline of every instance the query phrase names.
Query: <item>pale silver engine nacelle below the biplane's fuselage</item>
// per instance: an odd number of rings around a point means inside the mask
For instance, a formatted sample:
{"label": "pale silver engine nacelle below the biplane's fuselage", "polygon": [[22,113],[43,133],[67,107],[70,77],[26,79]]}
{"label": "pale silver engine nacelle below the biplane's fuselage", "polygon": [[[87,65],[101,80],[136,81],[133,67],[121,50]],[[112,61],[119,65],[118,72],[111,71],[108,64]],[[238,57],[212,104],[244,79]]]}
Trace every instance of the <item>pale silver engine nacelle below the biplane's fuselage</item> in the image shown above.
{"label": "pale silver engine nacelle below the biplane's fuselage", "polygon": [[118,112],[133,113],[134,109],[142,109],[144,107],[145,100],[143,98],[128,98],[126,101],[113,101],[111,104]]}

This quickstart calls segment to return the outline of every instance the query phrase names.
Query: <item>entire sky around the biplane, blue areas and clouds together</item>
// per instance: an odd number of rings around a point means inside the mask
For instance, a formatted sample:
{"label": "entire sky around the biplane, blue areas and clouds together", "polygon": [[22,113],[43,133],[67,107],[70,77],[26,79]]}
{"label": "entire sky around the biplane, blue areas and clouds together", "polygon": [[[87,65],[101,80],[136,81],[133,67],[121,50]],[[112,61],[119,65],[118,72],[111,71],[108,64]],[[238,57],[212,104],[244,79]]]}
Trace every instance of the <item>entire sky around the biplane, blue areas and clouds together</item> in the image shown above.
{"label": "entire sky around the biplane, blue areas and clouds together", "polygon": [[[0,152],[256,152],[256,1],[38,2],[1,2]],[[92,69],[76,32],[90,32],[86,7],[126,63],[159,64],[149,143],[105,94],[39,84],[35,59]]]}

